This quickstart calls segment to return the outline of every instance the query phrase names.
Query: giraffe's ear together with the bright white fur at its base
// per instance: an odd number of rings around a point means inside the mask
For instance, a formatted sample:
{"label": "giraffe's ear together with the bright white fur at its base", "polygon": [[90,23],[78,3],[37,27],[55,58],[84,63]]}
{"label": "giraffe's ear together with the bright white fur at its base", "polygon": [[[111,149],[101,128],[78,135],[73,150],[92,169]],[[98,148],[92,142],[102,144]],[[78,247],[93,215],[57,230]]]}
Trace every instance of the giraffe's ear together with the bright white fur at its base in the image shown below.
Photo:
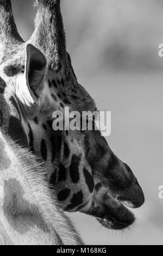
{"label": "giraffe's ear together with the bright white fur at its base", "polygon": [[34,113],[45,100],[47,60],[33,45],[27,45],[26,67],[23,75],[16,77],[16,97],[22,109]]}

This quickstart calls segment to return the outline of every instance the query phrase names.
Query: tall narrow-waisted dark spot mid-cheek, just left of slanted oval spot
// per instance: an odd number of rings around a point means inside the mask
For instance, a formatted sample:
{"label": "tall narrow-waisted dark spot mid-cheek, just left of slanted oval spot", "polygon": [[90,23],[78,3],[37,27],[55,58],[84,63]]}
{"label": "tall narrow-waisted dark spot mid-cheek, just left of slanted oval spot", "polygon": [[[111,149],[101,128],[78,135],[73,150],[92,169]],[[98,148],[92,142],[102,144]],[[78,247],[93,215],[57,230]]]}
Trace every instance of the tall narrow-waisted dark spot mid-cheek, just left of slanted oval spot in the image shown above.
{"label": "tall narrow-waisted dark spot mid-cheek, just left of slanted oval spot", "polygon": [[70,165],[70,177],[73,183],[78,183],[80,179],[79,164],[80,164],[80,157],[73,155],[71,159],[71,165]]}

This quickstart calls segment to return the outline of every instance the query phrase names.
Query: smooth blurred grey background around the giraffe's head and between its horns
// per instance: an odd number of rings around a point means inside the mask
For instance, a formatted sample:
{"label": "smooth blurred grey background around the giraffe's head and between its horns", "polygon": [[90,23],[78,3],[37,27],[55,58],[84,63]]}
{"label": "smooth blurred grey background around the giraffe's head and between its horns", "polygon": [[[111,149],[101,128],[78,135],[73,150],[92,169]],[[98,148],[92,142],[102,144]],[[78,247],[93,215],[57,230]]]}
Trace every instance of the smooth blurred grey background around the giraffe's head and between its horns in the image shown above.
{"label": "smooth blurred grey background around the giraffe's head and between its horns", "polygon": [[[33,0],[11,0],[18,31],[34,30]],[[91,245],[163,245],[162,0],[62,0],[67,50],[78,81],[101,110],[112,113],[108,143],[127,162],[146,196],[133,230],[111,231],[71,214]]]}

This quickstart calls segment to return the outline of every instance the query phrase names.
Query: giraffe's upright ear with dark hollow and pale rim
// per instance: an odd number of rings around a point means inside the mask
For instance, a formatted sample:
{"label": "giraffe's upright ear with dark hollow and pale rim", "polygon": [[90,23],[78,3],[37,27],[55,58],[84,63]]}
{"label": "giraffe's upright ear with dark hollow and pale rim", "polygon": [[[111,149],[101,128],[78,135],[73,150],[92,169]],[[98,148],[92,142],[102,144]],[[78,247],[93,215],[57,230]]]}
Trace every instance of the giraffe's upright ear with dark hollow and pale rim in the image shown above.
{"label": "giraffe's upright ear with dark hollow and pale rim", "polygon": [[47,72],[45,55],[31,44],[27,45],[26,81],[28,88],[38,98],[44,87]]}

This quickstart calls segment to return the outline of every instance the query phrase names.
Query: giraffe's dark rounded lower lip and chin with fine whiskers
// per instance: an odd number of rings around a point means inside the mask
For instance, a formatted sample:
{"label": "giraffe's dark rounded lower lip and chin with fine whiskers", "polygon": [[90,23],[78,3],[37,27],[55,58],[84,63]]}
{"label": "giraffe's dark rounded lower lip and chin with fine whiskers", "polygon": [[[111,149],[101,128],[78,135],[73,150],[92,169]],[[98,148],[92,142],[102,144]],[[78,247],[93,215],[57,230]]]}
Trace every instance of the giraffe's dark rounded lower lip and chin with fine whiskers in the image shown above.
{"label": "giraffe's dark rounded lower lip and chin with fine whiskers", "polygon": [[122,202],[116,200],[103,205],[103,215],[96,218],[105,228],[121,230],[128,228],[135,221],[135,216]]}

